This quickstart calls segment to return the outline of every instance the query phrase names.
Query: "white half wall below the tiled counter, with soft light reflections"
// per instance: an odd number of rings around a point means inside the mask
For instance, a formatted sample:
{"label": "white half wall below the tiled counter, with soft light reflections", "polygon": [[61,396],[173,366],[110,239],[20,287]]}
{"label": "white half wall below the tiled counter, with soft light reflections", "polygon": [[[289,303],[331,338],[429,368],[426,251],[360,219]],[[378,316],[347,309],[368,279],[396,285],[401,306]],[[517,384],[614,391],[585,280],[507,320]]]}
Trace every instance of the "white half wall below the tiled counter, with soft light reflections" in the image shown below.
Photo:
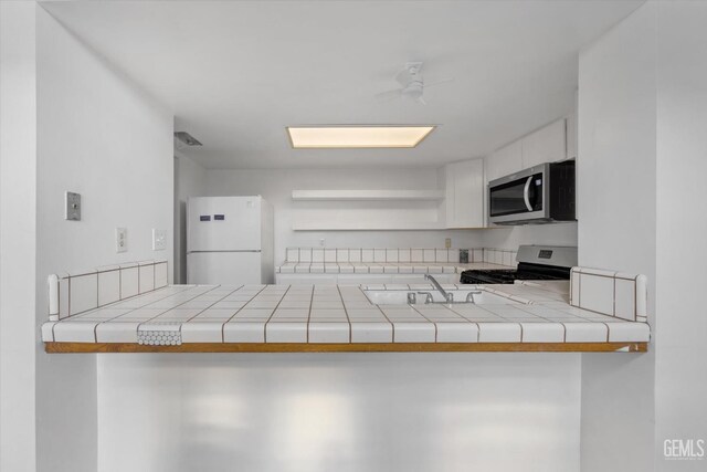
{"label": "white half wall below the tiled counter, with soft light reflections", "polygon": [[101,472],[579,471],[576,354],[103,359]]}

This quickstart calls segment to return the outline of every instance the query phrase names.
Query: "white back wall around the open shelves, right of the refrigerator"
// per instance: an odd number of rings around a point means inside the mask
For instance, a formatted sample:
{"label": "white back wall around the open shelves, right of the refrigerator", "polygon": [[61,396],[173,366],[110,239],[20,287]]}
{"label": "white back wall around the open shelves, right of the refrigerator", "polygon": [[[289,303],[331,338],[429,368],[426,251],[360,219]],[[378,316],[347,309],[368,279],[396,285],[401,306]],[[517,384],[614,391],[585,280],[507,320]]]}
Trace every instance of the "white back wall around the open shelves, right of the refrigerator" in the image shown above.
{"label": "white back wall around the open shelves, right of the refrigerator", "polygon": [[[335,158],[335,157],[333,157]],[[287,247],[329,248],[455,248],[481,247],[477,231],[293,231],[297,218],[384,221],[434,221],[437,202],[314,202],[293,201],[295,189],[436,189],[435,168],[382,169],[209,169],[209,196],[262,195],[275,209],[275,261],[285,260]]]}

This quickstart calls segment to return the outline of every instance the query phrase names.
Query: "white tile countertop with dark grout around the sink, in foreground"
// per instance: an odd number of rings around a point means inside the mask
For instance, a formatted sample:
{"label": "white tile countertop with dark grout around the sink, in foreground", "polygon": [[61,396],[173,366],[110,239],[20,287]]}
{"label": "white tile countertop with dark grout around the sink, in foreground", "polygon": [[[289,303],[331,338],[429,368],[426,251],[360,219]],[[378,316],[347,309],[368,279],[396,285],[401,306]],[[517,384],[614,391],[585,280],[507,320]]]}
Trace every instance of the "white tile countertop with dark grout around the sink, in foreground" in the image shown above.
{"label": "white tile countertop with dark grout around the sink, in foreground", "polygon": [[[489,304],[374,305],[365,290],[433,289],[428,284],[169,285],[48,322],[42,326],[42,339],[49,352],[110,352],[114,344],[182,348],[190,344],[240,345],[245,349],[249,345],[293,344],[316,350],[317,345],[591,345],[650,340],[650,327],[644,322],[571,306],[569,282],[476,287],[500,298]],[[71,350],[59,347],[63,343],[103,347]]]}

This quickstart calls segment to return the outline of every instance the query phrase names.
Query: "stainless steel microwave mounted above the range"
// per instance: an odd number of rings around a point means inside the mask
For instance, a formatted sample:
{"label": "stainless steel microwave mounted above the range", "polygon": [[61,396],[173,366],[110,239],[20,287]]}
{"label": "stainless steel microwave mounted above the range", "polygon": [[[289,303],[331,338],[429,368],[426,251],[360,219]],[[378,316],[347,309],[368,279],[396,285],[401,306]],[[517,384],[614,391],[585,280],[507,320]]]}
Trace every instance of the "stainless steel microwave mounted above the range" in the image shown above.
{"label": "stainless steel microwave mounted above the range", "polygon": [[547,162],[488,182],[496,224],[574,221],[574,161]]}

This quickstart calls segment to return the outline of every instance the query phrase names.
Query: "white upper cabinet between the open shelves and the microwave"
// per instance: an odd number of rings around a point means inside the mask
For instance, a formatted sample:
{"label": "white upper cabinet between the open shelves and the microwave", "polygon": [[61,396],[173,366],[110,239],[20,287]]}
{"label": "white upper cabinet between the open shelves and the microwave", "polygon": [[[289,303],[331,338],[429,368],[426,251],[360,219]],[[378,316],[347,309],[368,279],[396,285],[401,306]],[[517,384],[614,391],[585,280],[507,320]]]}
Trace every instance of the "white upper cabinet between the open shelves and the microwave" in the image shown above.
{"label": "white upper cabinet between the open shelves and the microwave", "polygon": [[484,159],[447,164],[444,171],[446,227],[484,227]]}

